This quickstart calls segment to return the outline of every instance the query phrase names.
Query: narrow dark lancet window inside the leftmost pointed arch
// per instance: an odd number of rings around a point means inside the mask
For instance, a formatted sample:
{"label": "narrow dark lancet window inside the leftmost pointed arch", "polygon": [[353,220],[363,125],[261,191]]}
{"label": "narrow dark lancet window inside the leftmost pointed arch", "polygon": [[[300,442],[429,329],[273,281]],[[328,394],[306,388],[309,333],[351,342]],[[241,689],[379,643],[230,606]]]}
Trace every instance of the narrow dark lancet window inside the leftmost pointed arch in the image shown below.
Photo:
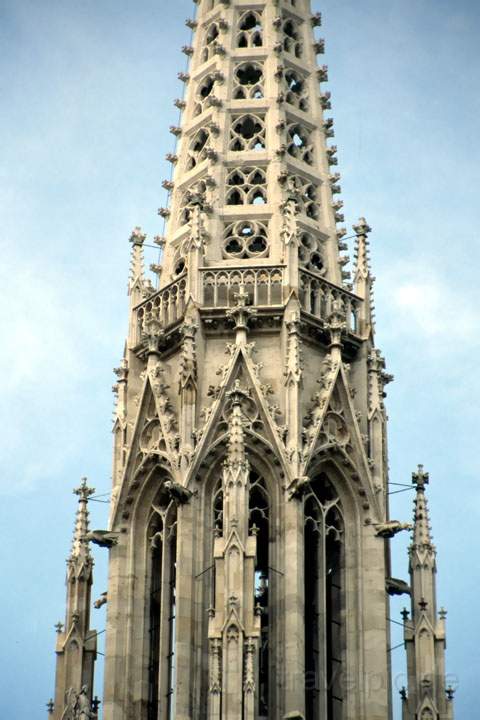
{"label": "narrow dark lancet window inside the leftmost pointed arch", "polygon": [[153,504],[148,528],[148,720],[174,720],[176,686],[176,507],[165,493]]}

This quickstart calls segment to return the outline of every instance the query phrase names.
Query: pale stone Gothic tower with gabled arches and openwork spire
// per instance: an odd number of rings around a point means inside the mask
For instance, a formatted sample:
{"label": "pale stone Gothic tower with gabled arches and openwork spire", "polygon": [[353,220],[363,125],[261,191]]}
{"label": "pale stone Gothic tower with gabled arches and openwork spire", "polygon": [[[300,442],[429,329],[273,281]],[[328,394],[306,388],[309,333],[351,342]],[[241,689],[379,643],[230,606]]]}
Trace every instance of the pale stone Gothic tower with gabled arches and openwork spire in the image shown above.
{"label": "pale stone Gothic tower with gabled arches and openwork spire", "polygon": [[[345,270],[320,21],[309,0],[199,0],[187,21],[158,289],[131,237],[97,534],[105,720],[392,717],[388,593],[410,588],[389,540],[408,526],[388,513],[391,377],[363,218],[351,284]],[[404,717],[446,720],[418,483]]]}

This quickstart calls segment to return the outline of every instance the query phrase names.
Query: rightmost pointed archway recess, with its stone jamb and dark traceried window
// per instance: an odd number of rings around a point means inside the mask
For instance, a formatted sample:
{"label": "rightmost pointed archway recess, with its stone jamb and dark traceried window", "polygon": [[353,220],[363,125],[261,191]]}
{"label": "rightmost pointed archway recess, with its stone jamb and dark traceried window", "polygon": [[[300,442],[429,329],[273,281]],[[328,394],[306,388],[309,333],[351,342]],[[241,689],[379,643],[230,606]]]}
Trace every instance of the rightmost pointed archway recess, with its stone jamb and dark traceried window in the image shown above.
{"label": "rightmost pointed archway recess, with its stone jamb and dark traceried window", "polygon": [[347,679],[361,673],[361,510],[351,479],[332,457],[314,458],[303,495],[305,719],[345,720]]}

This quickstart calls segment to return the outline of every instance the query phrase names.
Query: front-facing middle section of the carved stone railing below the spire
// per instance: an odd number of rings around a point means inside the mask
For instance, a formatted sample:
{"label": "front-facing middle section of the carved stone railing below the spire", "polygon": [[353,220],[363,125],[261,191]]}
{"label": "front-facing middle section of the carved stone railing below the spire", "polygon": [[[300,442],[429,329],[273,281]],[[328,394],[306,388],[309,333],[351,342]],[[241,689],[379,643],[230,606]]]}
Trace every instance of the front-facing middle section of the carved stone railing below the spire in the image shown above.
{"label": "front-facing middle section of the carved stone railing below the spire", "polygon": [[281,305],[284,300],[283,265],[262,267],[203,268],[203,305],[207,308],[232,307],[241,286],[248,294],[249,305]]}

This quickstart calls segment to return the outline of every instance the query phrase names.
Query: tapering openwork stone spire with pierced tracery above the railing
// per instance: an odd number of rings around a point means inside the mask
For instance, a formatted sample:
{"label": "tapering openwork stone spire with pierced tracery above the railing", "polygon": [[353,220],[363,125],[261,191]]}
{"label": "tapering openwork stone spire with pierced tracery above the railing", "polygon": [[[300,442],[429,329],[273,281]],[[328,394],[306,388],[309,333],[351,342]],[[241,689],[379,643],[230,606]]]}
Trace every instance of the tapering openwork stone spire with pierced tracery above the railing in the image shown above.
{"label": "tapering openwork stone spire with pierced tracery above the railing", "polygon": [[[160,287],[185,279],[182,292],[208,304],[218,289],[208,270],[249,267],[278,269],[280,300],[291,289],[312,298],[322,281],[343,285],[319,14],[310,0],[200,0],[187,24],[182,120],[168,156],[175,170],[159,211],[167,220]],[[245,284],[254,301],[253,276]]]}

